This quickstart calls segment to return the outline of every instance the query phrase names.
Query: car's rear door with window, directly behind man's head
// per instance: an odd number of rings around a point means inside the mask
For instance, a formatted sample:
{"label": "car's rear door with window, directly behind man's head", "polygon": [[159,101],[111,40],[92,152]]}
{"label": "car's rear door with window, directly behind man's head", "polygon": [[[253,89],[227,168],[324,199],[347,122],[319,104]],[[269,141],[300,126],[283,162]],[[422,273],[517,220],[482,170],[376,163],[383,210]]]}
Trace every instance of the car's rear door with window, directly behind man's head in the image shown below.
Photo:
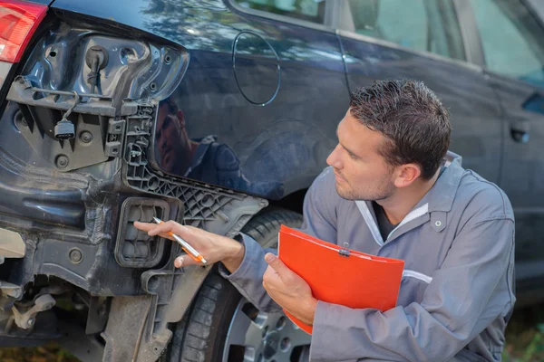
{"label": "car's rear door with window, directly behind man's head", "polygon": [[462,156],[464,167],[498,181],[500,107],[481,68],[468,62],[471,37],[462,26],[464,2],[338,4],[336,20],[350,89],[381,79],[423,81],[451,113],[450,149]]}

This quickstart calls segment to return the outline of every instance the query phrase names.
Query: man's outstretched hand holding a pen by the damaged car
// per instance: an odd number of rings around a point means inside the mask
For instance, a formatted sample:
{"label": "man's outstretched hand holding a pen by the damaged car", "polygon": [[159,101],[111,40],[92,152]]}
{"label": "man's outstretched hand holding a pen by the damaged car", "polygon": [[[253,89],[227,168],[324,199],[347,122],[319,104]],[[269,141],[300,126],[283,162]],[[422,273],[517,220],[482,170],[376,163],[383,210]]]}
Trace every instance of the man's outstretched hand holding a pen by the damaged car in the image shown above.
{"label": "man's outstretched hand holding a pen by the damaged car", "polygon": [[[169,233],[175,233],[199,251],[208,263],[222,262],[230,272],[236,271],[244,259],[244,244],[226,236],[208,233],[202,229],[181,225],[174,221],[167,221],[163,224],[135,222],[134,226],[147,232],[150,236],[160,235],[160,237],[172,241],[174,238]],[[174,262],[176,268],[197,264],[202,265],[201,262],[195,261],[187,254],[180,255]]]}

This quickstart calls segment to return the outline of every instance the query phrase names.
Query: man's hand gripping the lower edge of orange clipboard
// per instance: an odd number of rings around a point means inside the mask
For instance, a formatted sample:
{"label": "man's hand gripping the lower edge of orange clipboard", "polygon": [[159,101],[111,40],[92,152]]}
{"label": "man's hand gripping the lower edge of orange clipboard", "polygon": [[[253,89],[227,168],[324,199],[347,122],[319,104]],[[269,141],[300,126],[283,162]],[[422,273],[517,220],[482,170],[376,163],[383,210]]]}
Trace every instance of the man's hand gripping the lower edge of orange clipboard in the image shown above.
{"label": "man's hand gripping the lower edge of orange clipboard", "polygon": [[276,255],[268,252],[265,261],[268,268],[263,276],[263,286],[268,295],[297,319],[310,326],[314,324],[317,300],[308,283]]}

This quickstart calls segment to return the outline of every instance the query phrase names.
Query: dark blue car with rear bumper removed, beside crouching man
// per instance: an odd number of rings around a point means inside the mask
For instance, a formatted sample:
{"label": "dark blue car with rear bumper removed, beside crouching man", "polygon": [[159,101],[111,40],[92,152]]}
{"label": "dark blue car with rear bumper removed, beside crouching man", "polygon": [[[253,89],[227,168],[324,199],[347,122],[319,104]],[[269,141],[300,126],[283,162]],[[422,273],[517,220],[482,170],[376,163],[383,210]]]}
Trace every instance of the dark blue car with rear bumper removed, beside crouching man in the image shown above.
{"label": "dark blue car with rear bumper removed, beside crouching man", "polygon": [[518,306],[544,298],[538,0],[0,0],[0,346],[83,361],[303,361],[310,338],[153,216],[277,245],[349,92],[424,81],[452,151],[516,212]]}

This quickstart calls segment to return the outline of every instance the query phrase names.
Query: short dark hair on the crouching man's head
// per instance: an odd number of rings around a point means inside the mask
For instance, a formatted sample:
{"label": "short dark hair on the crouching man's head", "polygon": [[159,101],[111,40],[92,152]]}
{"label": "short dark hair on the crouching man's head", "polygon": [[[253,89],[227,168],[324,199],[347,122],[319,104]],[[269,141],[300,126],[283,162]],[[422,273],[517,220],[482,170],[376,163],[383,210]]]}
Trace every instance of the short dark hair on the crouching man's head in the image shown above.
{"label": "short dark hair on the crouching man's head", "polygon": [[415,163],[434,176],[450,147],[448,111],[421,81],[374,81],[351,94],[350,113],[387,138],[378,151],[390,166]]}

